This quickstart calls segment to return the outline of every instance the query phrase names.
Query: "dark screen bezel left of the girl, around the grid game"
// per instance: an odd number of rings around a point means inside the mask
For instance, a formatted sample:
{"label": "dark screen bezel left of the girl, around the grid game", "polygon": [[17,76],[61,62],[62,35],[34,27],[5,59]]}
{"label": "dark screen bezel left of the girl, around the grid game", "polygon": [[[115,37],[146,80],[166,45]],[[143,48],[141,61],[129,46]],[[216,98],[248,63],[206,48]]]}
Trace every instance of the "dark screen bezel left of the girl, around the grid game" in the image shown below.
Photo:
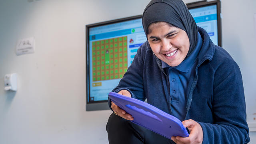
{"label": "dark screen bezel left of the girl, around the grid game", "polygon": [[116,20],[109,20],[106,22],[99,22],[94,24],[86,25],[86,111],[91,110],[108,110],[108,100],[100,100],[100,101],[90,101],[90,67],[89,67],[89,58],[90,58],[90,46],[89,46],[89,28],[104,26],[108,24],[114,24],[119,22],[125,22],[129,20],[136,20],[142,18],[142,15],[130,16],[126,18],[120,18]]}

